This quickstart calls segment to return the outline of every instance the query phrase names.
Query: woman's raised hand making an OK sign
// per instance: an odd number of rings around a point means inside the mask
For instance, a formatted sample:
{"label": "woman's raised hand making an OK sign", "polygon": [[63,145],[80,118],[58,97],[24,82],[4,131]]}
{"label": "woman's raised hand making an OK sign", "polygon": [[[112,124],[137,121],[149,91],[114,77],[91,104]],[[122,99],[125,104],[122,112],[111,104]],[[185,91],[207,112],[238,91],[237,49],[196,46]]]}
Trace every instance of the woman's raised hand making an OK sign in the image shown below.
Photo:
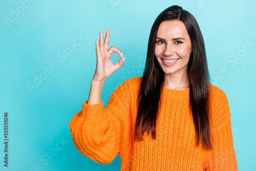
{"label": "woman's raised hand making an OK sign", "polygon": [[[106,37],[104,40],[103,32],[99,31],[100,41],[95,39],[96,44],[96,55],[97,55],[97,65],[96,71],[93,76],[93,80],[105,81],[109,78],[115,71],[123,66],[124,58],[121,50],[112,46],[109,50],[109,40],[110,40],[110,30],[106,29]],[[122,58],[119,59],[117,63],[112,63],[110,56],[114,53],[118,53]]]}

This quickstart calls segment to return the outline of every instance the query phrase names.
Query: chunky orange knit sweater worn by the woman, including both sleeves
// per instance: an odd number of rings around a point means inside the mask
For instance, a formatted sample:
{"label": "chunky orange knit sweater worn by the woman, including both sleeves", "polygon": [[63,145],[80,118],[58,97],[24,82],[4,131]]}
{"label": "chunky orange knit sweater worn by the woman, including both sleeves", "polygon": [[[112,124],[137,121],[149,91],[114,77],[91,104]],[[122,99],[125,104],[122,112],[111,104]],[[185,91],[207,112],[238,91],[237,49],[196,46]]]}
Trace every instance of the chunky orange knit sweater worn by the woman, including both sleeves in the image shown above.
{"label": "chunky orange knit sweater worn by the woman, including both sleeves", "polygon": [[124,81],[103,102],[88,105],[70,122],[75,147],[85,156],[111,163],[120,154],[121,170],[237,170],[230,112],[225,93],[211,86],[212,151],[196,146],[193,116],[189,110],[189,89],[163,88],[159,101],[156,140],[146,133],[133,141],[137,116],[137,95],[142,77]]}

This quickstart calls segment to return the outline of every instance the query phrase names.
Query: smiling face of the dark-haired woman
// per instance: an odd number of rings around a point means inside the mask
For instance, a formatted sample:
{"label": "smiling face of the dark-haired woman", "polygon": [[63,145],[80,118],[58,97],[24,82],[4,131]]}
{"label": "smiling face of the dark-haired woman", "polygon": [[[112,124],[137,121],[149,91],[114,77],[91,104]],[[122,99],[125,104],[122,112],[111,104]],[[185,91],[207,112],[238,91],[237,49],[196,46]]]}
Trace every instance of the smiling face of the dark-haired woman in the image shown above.
{"label": "smiling face of the dark-haired woman", "polygon": [[167,20],[159,25],[154,53],[165,76],[186,74],[191,51],[191,41],[184,23]]}

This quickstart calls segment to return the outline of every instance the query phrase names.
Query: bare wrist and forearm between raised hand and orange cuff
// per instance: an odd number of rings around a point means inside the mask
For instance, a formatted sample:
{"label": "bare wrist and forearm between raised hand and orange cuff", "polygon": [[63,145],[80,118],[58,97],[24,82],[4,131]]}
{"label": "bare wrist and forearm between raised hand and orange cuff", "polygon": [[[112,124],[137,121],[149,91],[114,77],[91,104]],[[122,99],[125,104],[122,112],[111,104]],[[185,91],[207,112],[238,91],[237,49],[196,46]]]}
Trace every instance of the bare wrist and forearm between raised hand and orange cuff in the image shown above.
{"label": "bare wrist and forearm between raised hand and orange cuff", "polygon": [[88,105],[100,103],[100,96],[101,96],[103,84],[104,84],[104,81],[97,81],[92,79],[90,94],[87,101]]}

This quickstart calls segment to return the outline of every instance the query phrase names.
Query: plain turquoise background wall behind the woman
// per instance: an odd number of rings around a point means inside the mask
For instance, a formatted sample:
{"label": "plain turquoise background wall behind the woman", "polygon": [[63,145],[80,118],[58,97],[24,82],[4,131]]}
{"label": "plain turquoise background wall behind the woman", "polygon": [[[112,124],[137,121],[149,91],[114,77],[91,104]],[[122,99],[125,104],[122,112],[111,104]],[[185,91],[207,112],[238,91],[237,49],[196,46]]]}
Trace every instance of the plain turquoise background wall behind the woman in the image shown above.
{"label": "plain turquoise background wall behind the woman", "polygon": [[[104,84],[105,106],[120,83],[142,76],[153,22],[172,5],[182,6],[199,23],[212,84],[229,100],[238,170],[256,170],[252,0],[1,1],[0,170],[120,170],[119,155],[107,165],[82,156],[69,131],[71,118],[89,96],[96,68],[94,39],[108,27],[109,48],[116,46],[125,56],[124,66]],[[17,11],[20,14],[15,15]],[[70,52],[65,54],[62,48]],[[116,63],[119,56],[111,59]],[[44,75],[43,68],[51,65],[55,68]],[[44,80],[30,90],[28,84],[39,75]],[[4,112],[9,112],[8,168],[3,163]]]}

